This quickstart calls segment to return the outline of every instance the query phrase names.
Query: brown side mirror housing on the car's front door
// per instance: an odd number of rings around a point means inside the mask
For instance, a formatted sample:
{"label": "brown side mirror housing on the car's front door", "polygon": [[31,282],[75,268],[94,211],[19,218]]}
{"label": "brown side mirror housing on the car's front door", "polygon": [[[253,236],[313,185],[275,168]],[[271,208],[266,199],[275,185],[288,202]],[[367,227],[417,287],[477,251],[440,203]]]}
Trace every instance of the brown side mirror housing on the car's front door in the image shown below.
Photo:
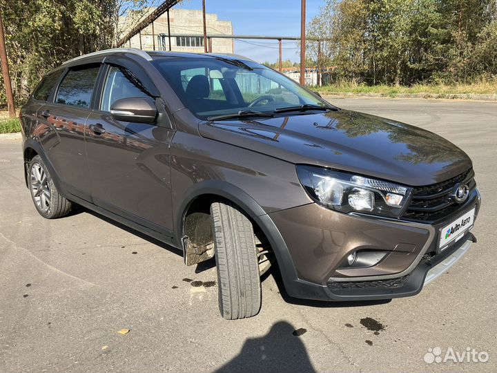
{"label": "brown side mirror housing on the car's front door", "polygon": [[155,123],[157,108],[151,98],[129,97],[117,99],[110,106],[110,114],[124,122]]}

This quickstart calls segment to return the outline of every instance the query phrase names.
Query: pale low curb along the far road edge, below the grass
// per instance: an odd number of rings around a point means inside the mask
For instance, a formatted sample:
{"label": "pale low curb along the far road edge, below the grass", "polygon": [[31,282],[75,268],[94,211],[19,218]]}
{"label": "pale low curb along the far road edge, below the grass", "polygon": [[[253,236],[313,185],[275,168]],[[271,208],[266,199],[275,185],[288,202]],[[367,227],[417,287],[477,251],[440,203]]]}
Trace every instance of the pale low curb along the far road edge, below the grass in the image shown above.
{"label": "pale low curb along the far road edge, below the grass", "polygon": [[469,101],[491,101],[497,102],[497,94],[494,95],[474,95],[471,93],[396,93],[395,95],[387,95],[380,93],[343,93],[343,92],[320,92],[324,96],[333,97],[371,97],[371,98],[385,98],[385,99],[465,99]]}

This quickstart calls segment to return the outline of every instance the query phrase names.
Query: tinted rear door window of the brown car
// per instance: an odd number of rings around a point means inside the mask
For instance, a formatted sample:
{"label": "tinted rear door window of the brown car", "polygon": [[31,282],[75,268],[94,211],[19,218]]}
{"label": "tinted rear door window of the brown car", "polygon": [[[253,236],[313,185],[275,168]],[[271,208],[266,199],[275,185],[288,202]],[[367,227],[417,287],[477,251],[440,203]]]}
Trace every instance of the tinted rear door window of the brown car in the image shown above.
{"label": "tinted rear door window of the brown car", "polygon": [[100,66],[69,70],[57,91],[55,102],[89,108]]}

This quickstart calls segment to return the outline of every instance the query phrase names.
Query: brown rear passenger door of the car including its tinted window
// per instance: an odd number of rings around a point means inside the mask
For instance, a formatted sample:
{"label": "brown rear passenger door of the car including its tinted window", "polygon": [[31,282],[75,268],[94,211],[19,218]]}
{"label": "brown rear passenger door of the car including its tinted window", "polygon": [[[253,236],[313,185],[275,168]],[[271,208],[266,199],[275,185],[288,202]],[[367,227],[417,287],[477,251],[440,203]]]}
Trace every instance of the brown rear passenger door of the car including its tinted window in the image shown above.
{"label": "brown rear passenger door of the car including its tinted window", "polygon": [[90,200],[91,183],[86,161],[84,131],[91,113],[92,95],[100,64],[70,68],[62,77],[52,102],[38,111],[46,131],[40,136],[64,189]]}

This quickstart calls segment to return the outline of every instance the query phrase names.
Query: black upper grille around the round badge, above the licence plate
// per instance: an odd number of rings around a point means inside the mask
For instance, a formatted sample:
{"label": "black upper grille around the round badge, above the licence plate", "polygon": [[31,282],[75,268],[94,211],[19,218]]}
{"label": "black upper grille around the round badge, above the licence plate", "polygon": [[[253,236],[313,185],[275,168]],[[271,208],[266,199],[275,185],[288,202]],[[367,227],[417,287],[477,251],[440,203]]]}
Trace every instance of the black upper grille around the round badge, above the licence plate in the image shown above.
{"label": "black upper grille around the round badge, above the licence plate", "polygon": [[438,220],[453,213],[460,207],[460,204],[452,198],[453,189],[458,183],[467,184],[471,193],[476,187],[473,170],[469,169],[445,182],[414,188],[411,203],[403,218],[422,221]]}

